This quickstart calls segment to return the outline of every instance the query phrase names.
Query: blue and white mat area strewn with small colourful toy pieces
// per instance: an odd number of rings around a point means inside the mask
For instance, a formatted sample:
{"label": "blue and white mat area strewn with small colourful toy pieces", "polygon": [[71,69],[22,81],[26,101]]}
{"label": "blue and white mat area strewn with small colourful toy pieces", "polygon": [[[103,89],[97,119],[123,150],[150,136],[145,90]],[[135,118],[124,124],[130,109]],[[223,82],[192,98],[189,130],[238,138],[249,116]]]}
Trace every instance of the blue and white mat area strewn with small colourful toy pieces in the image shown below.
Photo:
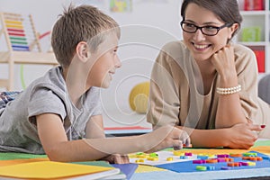
{"label": "blue and white mat area strewn with small colourful toy pieces", "polygon": [[250,169],[269,167],[270,160],[266,155],[256,151],[247,153],[194,154],[181,150],[158,151],[157,158],[149,158],[149,154],[137,153],[130,155],[130,162],[157,166],[177,173],[220,171],[232,169]]}

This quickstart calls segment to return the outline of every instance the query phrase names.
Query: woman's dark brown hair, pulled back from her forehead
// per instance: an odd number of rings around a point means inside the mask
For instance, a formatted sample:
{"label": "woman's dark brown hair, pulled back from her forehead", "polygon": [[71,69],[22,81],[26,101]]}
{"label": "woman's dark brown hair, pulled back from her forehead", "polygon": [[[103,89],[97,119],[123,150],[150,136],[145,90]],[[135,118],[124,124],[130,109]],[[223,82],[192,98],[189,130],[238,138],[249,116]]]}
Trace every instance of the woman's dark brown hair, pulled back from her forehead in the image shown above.
{"label": "woman's dark brown hair, pulled back from her forehead", "polygon": [[[191,3],[197,4],[211,11],[213,14],[216,14],[224,23],[238,23],[238,30],[240,29],[243,19],[239,12],[237,0],[184,0],[181,7],[183,21],[186,7]],[[232,36],[234,36],[237,31],[235,31]]]}

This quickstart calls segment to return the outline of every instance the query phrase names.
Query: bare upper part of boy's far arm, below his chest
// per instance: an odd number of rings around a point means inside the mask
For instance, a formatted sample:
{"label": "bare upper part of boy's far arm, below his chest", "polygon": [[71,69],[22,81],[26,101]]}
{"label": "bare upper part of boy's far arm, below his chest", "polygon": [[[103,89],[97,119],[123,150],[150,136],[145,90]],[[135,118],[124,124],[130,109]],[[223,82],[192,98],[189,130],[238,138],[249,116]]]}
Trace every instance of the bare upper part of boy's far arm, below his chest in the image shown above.
{"label": "bare upper part of boy's far arm, below his chest", "polygon": [[105,138],[103,130],[103,116],[95,115],[90,118],[86,123],[85,128],[86,139]]}

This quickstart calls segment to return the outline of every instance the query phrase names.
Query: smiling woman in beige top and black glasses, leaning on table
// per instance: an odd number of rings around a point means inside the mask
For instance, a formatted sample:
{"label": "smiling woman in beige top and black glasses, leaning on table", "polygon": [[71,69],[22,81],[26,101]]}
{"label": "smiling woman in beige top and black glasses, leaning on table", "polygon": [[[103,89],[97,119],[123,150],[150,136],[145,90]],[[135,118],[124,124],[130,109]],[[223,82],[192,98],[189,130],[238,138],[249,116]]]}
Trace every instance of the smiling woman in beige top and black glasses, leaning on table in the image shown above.
{"label": "smiling woman in beige top and black glasses, leaning on table", "polygon": [[181,15],[184,40],[167,43],[152,70],[148,121],[188,130],[193,147],[250,148],[270,138],[256,57],[231,42],[242,22],[237,0],[184,0]]}

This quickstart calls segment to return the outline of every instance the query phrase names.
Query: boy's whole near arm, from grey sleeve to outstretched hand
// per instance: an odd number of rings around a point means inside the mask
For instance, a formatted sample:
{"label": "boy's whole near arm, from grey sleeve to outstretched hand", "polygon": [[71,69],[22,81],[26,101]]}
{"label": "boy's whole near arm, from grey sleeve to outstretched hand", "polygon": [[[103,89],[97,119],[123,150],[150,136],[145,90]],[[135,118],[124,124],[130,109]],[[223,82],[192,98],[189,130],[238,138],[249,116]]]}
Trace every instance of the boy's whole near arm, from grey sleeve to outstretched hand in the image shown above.
{"label": "boy's whole near arm, from grey sleeve to outstretched hand", "polygon": [[[68,141],[63,123],[57,114],[37,116],[40,142],[50,160],[72,162],[96,160],[111,154],[157,151],[162,148],[182,148],[189,141],[183,130],[164,126],[141,136],[108,139],[78,139]],[[188,144],[188,143],[187,143]]]}

